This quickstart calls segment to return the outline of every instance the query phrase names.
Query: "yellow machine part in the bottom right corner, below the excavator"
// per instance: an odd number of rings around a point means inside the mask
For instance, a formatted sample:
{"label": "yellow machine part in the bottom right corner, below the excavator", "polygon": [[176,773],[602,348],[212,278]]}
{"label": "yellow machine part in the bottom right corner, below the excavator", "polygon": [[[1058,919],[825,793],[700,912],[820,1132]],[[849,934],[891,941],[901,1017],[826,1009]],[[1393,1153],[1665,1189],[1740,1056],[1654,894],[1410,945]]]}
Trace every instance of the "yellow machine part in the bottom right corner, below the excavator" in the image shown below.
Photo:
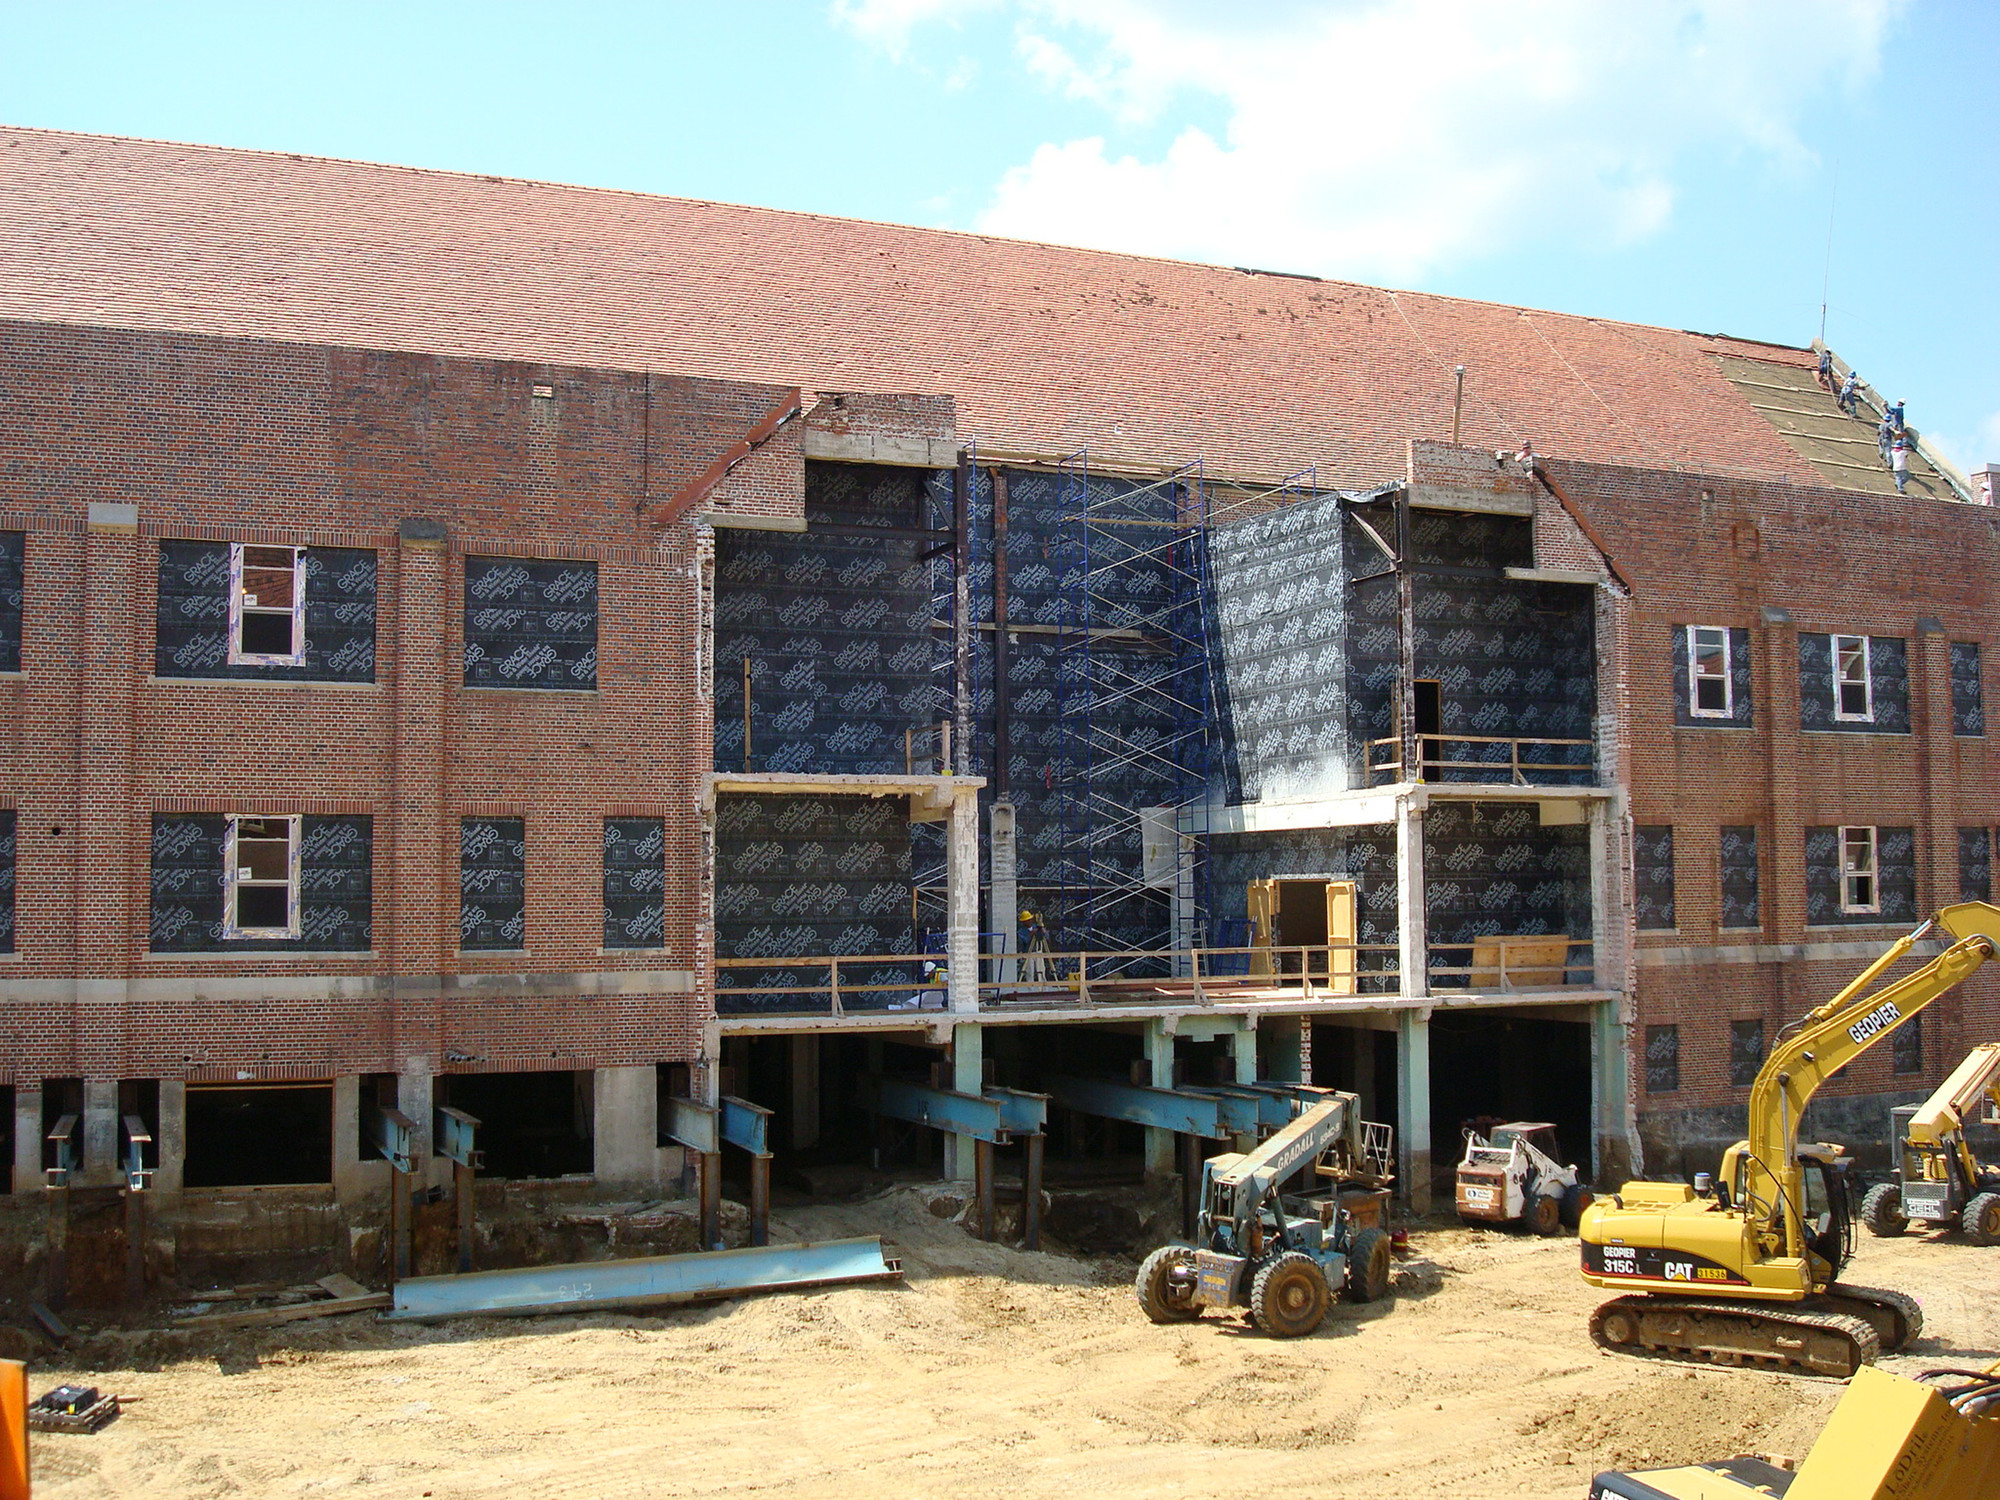
{"label": "yellow machine part in the bottom right corner, below the excavator", "polygon": [[1690,1464],[1600,1474],[1592,1500],[1980,1500],[2000,1496],[2000,1418],[1964,1416],[1930,1386],[1864,1366],[1784,1488]]}

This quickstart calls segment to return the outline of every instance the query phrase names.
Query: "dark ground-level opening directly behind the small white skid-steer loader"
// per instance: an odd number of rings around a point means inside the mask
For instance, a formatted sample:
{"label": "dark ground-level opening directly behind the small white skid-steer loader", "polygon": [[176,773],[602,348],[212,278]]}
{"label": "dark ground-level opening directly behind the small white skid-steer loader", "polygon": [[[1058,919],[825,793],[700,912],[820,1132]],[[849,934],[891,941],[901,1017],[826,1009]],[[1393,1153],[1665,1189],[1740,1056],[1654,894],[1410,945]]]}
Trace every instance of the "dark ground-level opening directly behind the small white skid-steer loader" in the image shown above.
{"label": "dark ground-level opening directly behind the small white skid-steer loader", "polygon": [[1510,1120],[1548,1120],[1562,1160],[1590,1172],[1590,1026],[1504,1010],[1434,1012],[1432,1164],[1450,1176],[1468,1126]]}

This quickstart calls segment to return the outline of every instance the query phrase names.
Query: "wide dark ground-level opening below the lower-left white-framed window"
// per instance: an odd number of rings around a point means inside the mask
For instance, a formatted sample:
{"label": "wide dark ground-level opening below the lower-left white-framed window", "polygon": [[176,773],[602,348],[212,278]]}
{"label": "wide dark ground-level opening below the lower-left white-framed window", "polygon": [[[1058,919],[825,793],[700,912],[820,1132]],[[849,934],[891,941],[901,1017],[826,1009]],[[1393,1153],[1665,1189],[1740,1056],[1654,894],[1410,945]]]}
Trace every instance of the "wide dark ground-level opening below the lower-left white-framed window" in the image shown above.
{"label": "wide dark ground-level opening below the lower-left white-framed window", "polygon": [[190,1188],[334,1180],[332,1084],[188,1084]]}

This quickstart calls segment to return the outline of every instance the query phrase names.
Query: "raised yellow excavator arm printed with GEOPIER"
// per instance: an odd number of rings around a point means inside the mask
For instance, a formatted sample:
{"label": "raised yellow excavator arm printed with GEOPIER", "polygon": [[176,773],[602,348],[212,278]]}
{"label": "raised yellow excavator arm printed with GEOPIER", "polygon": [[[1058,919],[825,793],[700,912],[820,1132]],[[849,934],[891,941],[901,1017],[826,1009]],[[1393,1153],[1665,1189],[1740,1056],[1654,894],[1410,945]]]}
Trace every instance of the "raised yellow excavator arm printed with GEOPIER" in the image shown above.
{"label": "raised yellow excavator arm printed with GEOPIER", "polygon": [[[1942,954],[1880,990],[1868,990],[1934,928],[1952,938]],[[2000,908],[1986,902],[1946,906],[1930,922],[1896,940],[1852,984],[1808,1012],[1772,1048],[1750,1086],[1742,1196],[1746,1208],[1756,1204],[1782,1220],[1784,1254],[1806,1252],[1798,1122],[1820,1084],[1914,1020],[1932,1000],[1964,984],[1996,952],[2000,952]]]}

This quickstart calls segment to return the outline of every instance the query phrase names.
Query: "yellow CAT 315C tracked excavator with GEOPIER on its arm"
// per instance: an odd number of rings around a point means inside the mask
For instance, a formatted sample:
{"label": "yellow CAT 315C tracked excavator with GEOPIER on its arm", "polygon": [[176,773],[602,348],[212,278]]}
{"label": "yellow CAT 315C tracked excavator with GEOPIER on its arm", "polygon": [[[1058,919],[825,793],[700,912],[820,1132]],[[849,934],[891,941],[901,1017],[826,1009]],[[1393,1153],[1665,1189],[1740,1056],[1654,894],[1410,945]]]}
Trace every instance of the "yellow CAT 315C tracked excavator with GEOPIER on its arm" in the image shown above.
{"label": "yellow CAT 315C tracked excavator with GEOPIER on its arm", "polygon": [[[1950,944],[1870,990],[1918,942]],[[1900,1292],[1840,1282],[1854,1252],[1854,1202],[1840,1146],[1800,1146],[1820,1084],[2000,950],[2000,908],[1948,906],[1898,938],[1840,994],[1780,1032],[1750,1084],[1750,1136],[1710,1180],[1626,1182],[1578,1226],[1584,1280],[1616,1290],[1590,1314],[1608,1350],[1800,1374],[1852,1376],[1924,1328]]]}

